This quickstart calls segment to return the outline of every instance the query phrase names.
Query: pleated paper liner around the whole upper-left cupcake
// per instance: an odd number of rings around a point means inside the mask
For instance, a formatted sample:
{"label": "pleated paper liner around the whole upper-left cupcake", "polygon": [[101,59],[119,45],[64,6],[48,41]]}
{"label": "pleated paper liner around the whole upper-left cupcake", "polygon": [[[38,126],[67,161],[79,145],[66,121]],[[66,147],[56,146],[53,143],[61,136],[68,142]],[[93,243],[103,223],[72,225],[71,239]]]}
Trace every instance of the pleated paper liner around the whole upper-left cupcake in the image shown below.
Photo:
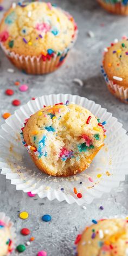
{"label": "pleated paper liner around the whole upper-left cupcake", "polygon": [[[53,57],[46,57],[46,60],[42,59],[42,55],[39,57],[37,56],[24,56],[15,54],[14,52],[11,52],[11,50],[5,48],[4,44],[1,42],[1,47],[7,55],[8,59],[16,66],[18,69],[20,69],[23,73],[27,74],[47,74],[50,72],[55,71],[57,68],[59,68],[63,62],[66,60],[66,57],[69,53],[69,51],[74,46],[74,43],[77,39],[78,30],[75,31],[74,38],[71,42],[71,44],[63,50],[63,52],[60,52],[59,55],[54,53]],[[45,57],[45,56],[44,56]]]}

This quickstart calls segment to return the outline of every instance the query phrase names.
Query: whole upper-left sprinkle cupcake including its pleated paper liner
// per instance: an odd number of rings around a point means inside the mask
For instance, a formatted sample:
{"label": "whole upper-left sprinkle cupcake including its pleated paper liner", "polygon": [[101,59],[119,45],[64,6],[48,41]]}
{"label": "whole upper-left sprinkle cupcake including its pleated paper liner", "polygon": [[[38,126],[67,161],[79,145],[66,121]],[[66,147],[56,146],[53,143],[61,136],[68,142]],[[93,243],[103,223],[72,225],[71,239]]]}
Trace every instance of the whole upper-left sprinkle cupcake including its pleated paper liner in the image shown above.
{"label": "whole upper-left sprinkle cupcake including its pleated paper liner", "polygon": [[73,17],[54,4],[13,3],[0,24],[0,41],[22,72],[44,74],[62,65],[77,31]]}

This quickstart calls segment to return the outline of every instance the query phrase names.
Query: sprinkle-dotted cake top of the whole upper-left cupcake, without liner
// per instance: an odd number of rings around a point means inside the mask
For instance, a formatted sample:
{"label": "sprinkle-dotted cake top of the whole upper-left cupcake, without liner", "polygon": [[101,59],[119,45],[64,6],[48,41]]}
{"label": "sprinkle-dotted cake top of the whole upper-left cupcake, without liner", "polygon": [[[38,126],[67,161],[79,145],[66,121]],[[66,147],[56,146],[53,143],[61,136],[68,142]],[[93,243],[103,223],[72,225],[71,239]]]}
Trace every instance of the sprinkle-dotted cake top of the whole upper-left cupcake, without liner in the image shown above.
{"label": "sprinkle-dotted cake top of the whole upper-left cupcake, without liner", "polygon": [[76,30],[73,17],[56,5],[12,4],[0,25],[0,41],[20,55],[59,55],[73,42]]}

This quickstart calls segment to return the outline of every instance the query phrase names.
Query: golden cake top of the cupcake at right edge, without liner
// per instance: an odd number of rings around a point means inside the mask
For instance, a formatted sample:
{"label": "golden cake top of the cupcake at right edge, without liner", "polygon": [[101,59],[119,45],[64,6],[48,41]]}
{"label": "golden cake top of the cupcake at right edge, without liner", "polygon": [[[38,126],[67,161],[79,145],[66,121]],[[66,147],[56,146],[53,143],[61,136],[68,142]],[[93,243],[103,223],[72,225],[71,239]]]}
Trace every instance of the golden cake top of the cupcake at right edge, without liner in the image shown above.
{"label": "golden cake top of the cupcake at right edge, without liner", "polygon": [[112,43],[106,48],[103,67],[108,80],[114,84],[128,87],[128,41],[122,40],[118,43]]}

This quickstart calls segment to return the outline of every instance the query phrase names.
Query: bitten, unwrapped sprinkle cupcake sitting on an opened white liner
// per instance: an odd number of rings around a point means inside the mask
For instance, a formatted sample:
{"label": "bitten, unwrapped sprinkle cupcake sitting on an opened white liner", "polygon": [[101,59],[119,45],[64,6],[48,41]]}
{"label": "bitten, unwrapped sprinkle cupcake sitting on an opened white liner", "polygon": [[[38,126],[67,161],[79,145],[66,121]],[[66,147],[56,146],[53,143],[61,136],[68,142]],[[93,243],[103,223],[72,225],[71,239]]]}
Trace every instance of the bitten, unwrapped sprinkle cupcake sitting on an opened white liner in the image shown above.
{"label": "bitten, unwrapped sprinkle cupcake sitting on an opened white liner", "polygon": [[104,127],[75,104],[44,106],[25,120],[23,144],[37,167],[52,176],[71,176],[89,167],[104,145]]}

